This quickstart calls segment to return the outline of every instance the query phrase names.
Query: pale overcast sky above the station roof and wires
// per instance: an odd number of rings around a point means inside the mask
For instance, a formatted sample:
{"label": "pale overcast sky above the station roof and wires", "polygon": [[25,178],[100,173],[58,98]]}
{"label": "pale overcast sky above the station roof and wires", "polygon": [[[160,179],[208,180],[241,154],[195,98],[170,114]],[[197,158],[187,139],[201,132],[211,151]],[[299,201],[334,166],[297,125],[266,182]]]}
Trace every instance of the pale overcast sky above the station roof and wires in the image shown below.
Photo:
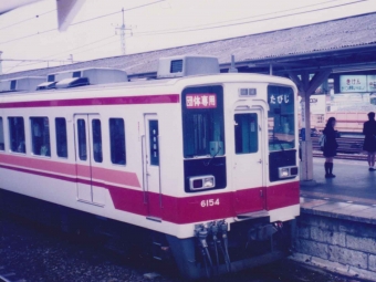
{"label": "pale overcast sky above the station roof and wires", "polygon": [[55,9],[42,0],[0,15],[3,73],[122,55],[122,9],[133,54],[376,12],[376,0],[86,0],[65,32]]}

